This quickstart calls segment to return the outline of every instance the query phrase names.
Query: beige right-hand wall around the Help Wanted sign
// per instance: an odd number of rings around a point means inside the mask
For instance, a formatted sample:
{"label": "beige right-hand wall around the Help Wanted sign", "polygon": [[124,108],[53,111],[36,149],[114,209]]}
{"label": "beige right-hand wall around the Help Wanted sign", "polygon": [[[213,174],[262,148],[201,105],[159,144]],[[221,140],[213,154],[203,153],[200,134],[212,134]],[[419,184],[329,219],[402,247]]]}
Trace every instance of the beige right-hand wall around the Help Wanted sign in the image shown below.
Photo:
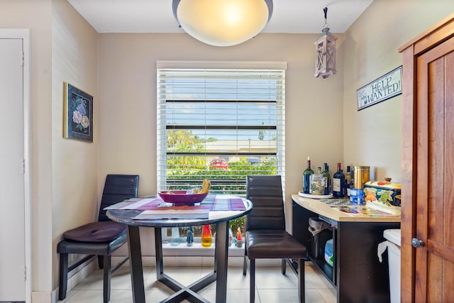
{"label": "beige right-hand wall around the Help Wanted sign", "polygon": [[343,160],[401,181],[402,95],[357,111],[356,90],[402,65],[397,48],[454,11],[452,0],[375,0],[345,33]]}

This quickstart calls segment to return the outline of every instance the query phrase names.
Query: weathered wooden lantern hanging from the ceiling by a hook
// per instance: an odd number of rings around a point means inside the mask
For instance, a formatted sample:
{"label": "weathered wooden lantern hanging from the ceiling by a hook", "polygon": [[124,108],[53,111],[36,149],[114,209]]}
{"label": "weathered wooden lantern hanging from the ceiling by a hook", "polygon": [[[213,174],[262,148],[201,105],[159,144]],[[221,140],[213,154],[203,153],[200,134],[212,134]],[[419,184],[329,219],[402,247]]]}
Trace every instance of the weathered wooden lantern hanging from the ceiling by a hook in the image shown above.
{"label": "weathered wooden lantern hanging from the ceiling by a hook", "polygon": [[329,75],[336,74],[336,38],[329,32],[328,23],[326,22],[326,14],[328,8],[324,8],[325,24],[322,34],[315,44],[315,77],[321,76],[323,79]]}

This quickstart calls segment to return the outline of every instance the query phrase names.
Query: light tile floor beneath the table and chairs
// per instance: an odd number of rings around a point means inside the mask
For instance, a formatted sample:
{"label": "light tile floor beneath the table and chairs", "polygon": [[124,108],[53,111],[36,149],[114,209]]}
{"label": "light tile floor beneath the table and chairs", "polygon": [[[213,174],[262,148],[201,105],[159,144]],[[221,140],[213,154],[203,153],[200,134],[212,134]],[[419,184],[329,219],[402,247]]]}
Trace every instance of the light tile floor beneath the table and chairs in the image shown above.
{"label": "light tile floor beneath the table and chairs", "polygon": [[[306,302],[336,302],[336,290],[321,271],[310,262],[305,263]],[[165,267],[167,275],[184,285],[208,274],[211,268]],[[160,302],[170,296],[172,290],[156,280],[155,268],[143,270],[146,302]],[[297,276],[287,265],[287,275],[282,275],[280,267],[258,267],[255,273],[255,302],[277,303],[298,302]],[[216,298],[216,282],[199,292],[211,302]],[[74,286],[64,301],[67,303],[103,302],[102,270],[95,270],[78,285]],[[131,277],[128,266],[119,268],[111,280],[111,303],[132,303]],[[187,301],[185,301],[187,302]],[[227,302],[249,302],[249,273],[243,276],[243,268],[229,267],[227,279]]]}

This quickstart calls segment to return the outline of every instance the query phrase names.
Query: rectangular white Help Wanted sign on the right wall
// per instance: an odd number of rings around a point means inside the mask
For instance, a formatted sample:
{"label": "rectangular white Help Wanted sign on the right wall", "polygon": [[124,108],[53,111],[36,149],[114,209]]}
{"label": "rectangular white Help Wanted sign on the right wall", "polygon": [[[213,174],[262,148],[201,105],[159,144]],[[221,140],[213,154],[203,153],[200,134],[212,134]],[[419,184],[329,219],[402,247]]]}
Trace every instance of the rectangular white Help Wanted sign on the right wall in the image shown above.
{"label": "rectangular white Help Wanted sign on the right wall", "polygon": [[356,91],[358,111],[402,94],[402,65]]}

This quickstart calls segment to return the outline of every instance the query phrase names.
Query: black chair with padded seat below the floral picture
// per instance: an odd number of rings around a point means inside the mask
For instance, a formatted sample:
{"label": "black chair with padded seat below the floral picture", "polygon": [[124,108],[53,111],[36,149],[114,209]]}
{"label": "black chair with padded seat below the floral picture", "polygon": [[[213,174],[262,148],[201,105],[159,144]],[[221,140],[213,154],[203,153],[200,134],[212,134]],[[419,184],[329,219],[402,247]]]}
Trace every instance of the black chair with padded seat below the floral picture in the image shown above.
{"label": "black chair with padded seat below the floral picture", "polygon": [[[128,238],[126,225],[111,221],[104,208],[124,199],[137,197],[138,183],[138,175],[107,175],[98,221],[63,233],[63,239],[57,245],[57,253],[60,253],[58,299],[66,297],[68,272],[97,255],[99,268],[104,268],[104,303],[109,302],[111,274],[129,259],[129,255],[111,268],[111,254],[126,243]],[[87,254],[87,257],[68,268],[68,253]]]}

